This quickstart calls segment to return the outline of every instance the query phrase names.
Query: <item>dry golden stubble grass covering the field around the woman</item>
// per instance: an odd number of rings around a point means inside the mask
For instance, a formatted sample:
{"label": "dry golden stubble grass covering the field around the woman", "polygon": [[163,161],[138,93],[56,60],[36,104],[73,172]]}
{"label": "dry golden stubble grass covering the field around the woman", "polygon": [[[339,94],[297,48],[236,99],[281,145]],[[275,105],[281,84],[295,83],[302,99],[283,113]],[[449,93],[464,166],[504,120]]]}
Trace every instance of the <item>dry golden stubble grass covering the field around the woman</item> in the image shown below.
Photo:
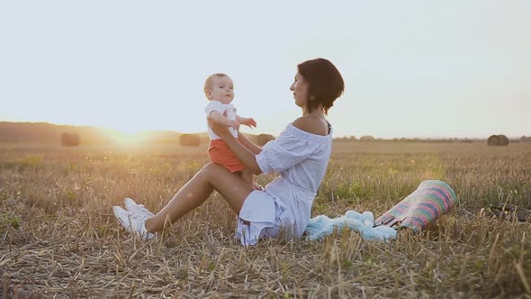
{"label": "dry golden stubble grass covering the field around the woman", "polygon": [[[338,143],[313,214],[377,216],[424,179],[460,204],[420,235],[379,243],[233,239],[219,195],[142,242],[112,216],[125,196],[159,210],[207,162],[204,149],[0,146],[2,297],[530,297],[531,145]],[[265,185],[271,176],[257,177]]]}

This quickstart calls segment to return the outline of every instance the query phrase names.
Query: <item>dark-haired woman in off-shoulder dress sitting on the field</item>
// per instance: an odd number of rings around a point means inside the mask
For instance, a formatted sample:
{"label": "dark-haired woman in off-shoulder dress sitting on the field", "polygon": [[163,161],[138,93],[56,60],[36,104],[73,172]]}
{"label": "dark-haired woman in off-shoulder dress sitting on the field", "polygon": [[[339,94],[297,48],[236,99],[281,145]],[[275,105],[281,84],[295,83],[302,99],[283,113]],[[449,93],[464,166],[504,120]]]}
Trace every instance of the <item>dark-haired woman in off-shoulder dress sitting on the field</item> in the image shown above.
{"label": "dark-haired woman in off-shoulder dress sitting on the field", "polygon": [[[326,119],[329,108],[343,94],[344,82],[338,69],[327,59],[311,59],[297,66],[290,89],[302,117],[263,149],[228,128],[209,121],[212,131],[254,174],[277,172],[279,177],[257,190],[241,177],[217,164],[207,164],[188,181],[156,215],[141,204],[125,199],[126,209],[115,206],[121,224],[142,238],[162,231],[166,219],[175,222],[200,206],[216,190],[238,215],[237,238],[254,245],[264,237],[278,237],[284,231],[299,238],[311,216],[311,204],[326,172],[332,145],[332,127]],[[240,144],[242,143],[242,144]]]}

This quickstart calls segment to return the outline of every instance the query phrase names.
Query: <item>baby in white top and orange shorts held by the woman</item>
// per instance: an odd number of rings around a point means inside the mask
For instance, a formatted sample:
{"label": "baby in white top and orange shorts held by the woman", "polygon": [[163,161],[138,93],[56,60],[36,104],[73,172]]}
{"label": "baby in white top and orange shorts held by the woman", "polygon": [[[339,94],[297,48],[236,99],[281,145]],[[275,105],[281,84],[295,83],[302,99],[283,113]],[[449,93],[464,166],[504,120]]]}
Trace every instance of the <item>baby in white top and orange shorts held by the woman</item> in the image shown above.
{"label": "baby in white top and orange shorts held by the woman", "polygon": [[[254,119],[238,116],[236,108],[230,104],[234,98],[234,84],[229,76],[213,74],[208,77],[204,82],[204,95],[209,100],[204,112],[212,122],[229,127],[234,138],[238,139],[240,124],[245,124],[249,128],[257,126]],[[211,161],[229,169],[232,173],[238,173],[246,182],[253,184],[253,173],[245,168],[225,142],[211,130],[210,126],[208,126],[208,132],[211,139],[208,155]]]}

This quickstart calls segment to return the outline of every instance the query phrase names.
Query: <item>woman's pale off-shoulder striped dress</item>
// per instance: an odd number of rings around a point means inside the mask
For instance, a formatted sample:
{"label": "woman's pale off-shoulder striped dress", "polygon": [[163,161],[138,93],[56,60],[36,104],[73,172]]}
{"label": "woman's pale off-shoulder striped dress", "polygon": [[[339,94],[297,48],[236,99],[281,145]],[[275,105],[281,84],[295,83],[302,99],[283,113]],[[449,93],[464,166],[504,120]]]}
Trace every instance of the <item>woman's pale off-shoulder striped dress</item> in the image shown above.
{"label": "woman's pale off-shoulder striped dress", "polygon": [[[332,129],[321,136],[302,131],[291,123],[257,155],[263,173],[278,172],[263,191],[247,196],[238,215],[236,238],[255,245],[281,231],[300,238],[311,216],[311,204],[329,165]],[[250,222],[250,225],[244,223]]]}

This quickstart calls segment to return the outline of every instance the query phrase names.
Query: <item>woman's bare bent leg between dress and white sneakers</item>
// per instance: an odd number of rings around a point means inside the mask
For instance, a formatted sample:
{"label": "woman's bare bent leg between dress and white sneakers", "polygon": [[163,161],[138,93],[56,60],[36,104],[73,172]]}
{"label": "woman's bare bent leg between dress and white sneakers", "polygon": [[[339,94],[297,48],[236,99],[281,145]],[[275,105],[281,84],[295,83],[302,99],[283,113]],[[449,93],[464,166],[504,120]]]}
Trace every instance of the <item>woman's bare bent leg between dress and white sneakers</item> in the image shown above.
{"label": "woman's bare bent leg between dress and white sneakers", "polygon": [[254,189],[241,177],[217,164],[207,164],[192,177],[166,206],[146,221],[150,232],[162,231],[166,218],[175,222],[204,203],[212,191],[218,191],[234,213],[239,214],[243,202]]}

